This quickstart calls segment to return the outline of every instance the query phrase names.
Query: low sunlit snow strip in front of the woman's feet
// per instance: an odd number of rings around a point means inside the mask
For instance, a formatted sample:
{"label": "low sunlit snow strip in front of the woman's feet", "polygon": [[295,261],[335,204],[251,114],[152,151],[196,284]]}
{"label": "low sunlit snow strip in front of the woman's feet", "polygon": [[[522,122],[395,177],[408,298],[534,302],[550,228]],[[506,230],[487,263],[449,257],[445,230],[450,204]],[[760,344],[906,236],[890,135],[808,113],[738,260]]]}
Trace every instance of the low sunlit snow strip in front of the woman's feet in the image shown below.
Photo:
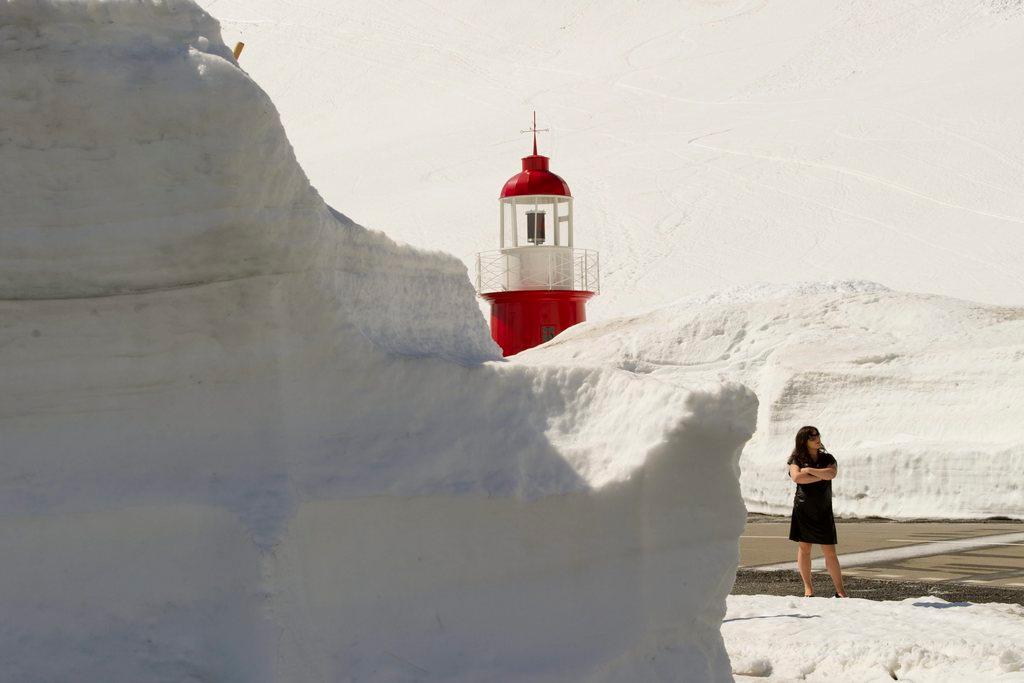
{"label": "low sunlit snow strip in front of the woman's feet", "polygon": [[737,681],[1021,681],[1024,608],[730,595]]}

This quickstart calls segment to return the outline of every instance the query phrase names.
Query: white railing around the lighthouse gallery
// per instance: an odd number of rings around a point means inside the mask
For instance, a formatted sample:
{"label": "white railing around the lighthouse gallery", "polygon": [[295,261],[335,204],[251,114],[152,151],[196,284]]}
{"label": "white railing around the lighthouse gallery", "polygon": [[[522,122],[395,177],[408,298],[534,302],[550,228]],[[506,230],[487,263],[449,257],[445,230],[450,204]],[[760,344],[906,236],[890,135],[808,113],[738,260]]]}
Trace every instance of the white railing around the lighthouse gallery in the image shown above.
{"label": "white railing around the lighthouse gallery", "polygon": [[520,247],[476,255],[476,293],[601,290],[598,253],[568,247]]}

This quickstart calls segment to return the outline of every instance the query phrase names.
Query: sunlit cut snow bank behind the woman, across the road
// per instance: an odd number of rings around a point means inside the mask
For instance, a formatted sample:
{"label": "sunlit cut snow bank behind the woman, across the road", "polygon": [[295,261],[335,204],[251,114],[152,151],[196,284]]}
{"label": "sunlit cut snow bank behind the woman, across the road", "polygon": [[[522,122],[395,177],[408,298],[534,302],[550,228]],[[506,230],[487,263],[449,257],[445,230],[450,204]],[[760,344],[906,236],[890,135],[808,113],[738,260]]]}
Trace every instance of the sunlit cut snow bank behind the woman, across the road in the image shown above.
{"label": "sunlit cut snow bank behind the woman, across the road", "polygon": [[519,357],[750,386],[752,511],[790,510],[785,460],[813,424],[840,463],[840,514],[1024,518],[1024,308],[863,282],[741,287],[573,328]]}

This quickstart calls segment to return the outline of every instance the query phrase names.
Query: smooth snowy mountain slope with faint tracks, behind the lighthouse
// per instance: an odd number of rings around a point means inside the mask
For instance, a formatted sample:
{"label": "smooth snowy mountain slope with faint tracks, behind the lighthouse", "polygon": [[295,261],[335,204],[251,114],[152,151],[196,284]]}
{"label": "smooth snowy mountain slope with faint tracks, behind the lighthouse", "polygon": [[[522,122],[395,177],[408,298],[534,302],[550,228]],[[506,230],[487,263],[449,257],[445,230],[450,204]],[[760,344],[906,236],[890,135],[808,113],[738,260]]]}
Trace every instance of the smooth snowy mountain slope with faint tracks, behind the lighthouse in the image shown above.
{"label": "smooth snowy mountain slope with faint tracks, behind the lighthouse", "polygon": [[764,282],[1024,303],[1015,0],[206,0],[312,184],[465,259],[537,110],[595,318]]}

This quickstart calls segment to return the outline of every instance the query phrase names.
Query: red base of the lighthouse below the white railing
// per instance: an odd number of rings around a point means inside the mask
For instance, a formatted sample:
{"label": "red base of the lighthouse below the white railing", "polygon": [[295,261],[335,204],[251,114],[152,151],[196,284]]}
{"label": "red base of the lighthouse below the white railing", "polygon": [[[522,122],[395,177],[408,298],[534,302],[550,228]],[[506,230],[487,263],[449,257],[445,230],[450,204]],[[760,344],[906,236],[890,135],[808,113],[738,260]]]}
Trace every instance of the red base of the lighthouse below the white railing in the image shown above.
{"label": "red base of the lighthouse below the white railing", "polygon": [[513,355],[543,344],[587,319],[587,301],[593,292],[523,290],[481,294],[490,302],[490,336],[503,355]]}

